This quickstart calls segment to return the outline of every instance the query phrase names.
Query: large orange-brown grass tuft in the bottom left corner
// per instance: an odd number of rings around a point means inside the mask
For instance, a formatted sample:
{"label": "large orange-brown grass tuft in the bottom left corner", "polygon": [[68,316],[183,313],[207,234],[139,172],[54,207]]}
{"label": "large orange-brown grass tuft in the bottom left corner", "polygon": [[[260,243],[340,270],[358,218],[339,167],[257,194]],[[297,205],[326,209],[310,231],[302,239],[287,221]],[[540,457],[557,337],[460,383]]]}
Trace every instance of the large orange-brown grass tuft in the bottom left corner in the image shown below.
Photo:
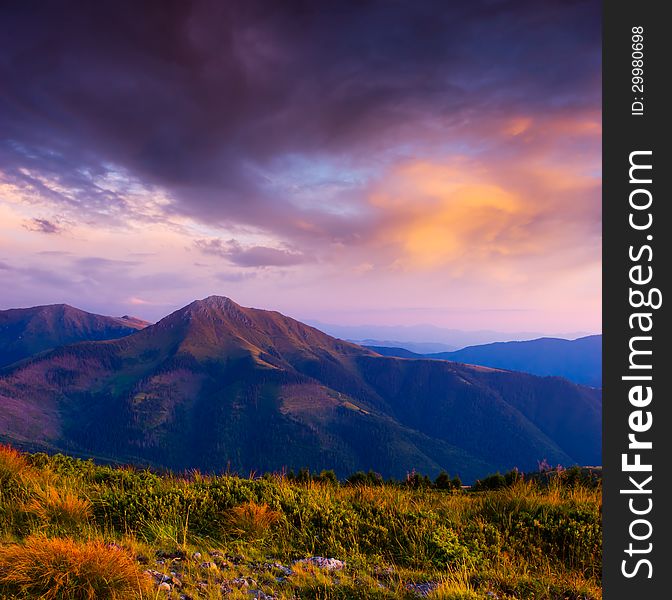
{"label": "large orange-brown grass tuft in the bottom left corner", "polygon": [[148,592],[150,582],[116,546],[31,537],[0,547],[0,589],[14,598],[124,600]]}

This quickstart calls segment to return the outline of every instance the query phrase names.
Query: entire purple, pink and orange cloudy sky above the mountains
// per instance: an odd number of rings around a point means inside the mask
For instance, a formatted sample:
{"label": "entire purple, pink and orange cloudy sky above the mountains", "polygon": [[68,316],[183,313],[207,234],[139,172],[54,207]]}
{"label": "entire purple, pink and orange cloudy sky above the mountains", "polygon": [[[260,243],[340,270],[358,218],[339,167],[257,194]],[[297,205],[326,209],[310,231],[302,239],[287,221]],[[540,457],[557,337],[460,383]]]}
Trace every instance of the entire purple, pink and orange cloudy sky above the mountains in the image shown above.
{"label": "entire purple, pink and orange cloudy sky above the mountains", "polygon": [[597,0],[0,7],[0,308],[601,330]]}

